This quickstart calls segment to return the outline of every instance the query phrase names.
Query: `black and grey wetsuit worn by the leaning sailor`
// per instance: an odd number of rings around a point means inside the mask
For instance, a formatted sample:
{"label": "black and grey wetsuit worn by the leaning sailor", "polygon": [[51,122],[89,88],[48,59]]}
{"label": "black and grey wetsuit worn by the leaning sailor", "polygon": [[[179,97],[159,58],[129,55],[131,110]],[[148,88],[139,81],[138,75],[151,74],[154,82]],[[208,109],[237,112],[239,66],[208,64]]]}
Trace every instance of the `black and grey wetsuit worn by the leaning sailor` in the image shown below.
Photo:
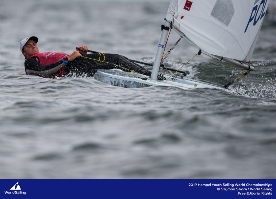
{"label": "black and grey wetsuit worn by the leaning sailor", "polygon": [[[88,59],[88,58],[92,59]],[[124,71],[134,71],[141,73],[146,76],[151,76],[151,72],[140,66],[139,64],[133,63],[128,60],[128,58],[123,57],[118,54],[101,54],[100,60],[104,62],[100,63],[99,60],[100,54],[86,54],[82,57],[78,57],[73,61],[68,62],[68,58],[64,58],[67,62],[65,65],[62,60],[49,64],[43,65],[39,63],[37,57],[31,57],[25,60],[25,71],[28,75],[39,75],[39,76],[49,76],[55,74],[60,68],[64,66],[66,76],[93,76],[98,69],[121,69]],[[108,63],[106,63],[108,62]],[[116,64],[116,65],[113,65]],[[127,69],[129,70],[127,70]],[[129,71],[130,72],[130,71]]]}

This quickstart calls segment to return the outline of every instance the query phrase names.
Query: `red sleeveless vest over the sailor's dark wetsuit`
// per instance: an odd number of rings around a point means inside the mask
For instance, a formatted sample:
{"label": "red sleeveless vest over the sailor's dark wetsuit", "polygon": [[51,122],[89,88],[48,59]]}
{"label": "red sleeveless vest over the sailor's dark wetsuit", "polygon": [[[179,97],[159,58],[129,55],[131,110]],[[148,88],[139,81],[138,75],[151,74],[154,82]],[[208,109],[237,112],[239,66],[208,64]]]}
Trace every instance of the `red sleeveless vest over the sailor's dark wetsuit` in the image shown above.
{"label": "red sleeveless vest over the sailor's dark wetsuit", "polygon": [[[39,63],[46,66],[49,64],[54,64],[68,56],[69,55],[67,55],[66,53],[62,53],[62,52],[57,52],[57,53],[56,52],[45,52],[45,53],[37,53],[37,54],[33,55],[32,57],[38,57]],[[26,74],[27,74],[27,72],[26,72]],[[64,66],[63,66],[55,74],[47,76],[46,78],[56,78],[56,77],[62,77],[64,75],[65,75],[65,70],[64,70]]]}

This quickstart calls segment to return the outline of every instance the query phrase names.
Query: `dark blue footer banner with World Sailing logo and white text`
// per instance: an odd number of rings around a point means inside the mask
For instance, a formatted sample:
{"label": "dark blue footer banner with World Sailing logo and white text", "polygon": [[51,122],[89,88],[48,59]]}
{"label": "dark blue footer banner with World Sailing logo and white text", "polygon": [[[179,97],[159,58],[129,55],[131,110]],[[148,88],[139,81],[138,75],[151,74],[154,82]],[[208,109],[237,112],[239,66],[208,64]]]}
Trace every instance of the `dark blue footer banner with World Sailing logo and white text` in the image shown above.
{"label": "dark blue footer banner with World Sailing logo and white text", "polygon": [[0,180],[0,198],[276,198],[276,180]]}

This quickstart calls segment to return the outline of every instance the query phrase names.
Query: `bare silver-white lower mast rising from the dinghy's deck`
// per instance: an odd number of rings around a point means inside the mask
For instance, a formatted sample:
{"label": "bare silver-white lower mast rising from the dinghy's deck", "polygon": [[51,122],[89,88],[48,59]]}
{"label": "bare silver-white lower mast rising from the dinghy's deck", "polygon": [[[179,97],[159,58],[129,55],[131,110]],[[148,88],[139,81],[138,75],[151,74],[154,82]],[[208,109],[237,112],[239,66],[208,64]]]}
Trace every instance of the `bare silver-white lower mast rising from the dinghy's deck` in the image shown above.
{"label": "bare silver-white lower mast rising from the dinghy's deck", "polygon": [[153,82],[155,82],[156,78],[157,78],[157,74],[158,74],[159,67],[160,67],[160,64],[161,64],[163,52],[165,50],[164,48],[165,48],[166,40],[167,40],[167,37],[168,37],[168,34],[169,34],[170,26],[171,26],[171,21],[167,21],[165,19],[165,23],[164,23],[164,25],[162,25],[162,28],[161,28],[162,29],[162,34],[161,34],[158,49],[157,49],[157,52],[156,52],[152,72],[151,72],[151,81],[153,81]]}

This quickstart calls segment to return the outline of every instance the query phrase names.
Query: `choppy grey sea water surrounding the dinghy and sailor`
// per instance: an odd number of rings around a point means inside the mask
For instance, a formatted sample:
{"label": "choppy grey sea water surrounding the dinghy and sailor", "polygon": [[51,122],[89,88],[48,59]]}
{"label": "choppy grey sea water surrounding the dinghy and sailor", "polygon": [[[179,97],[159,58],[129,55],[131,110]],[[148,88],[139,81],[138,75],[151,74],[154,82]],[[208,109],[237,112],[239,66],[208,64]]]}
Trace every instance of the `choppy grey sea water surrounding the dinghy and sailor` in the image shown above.
{"label": "choppy grey sea water surrounding the dinghy and sailor", "polygon": [[[228,91],[25,75],[19,42],[33,35],[40,52],[85,44],[152,63],[168,4],[1,1],[1,179],[276,178],[274,26],[261,30],[255,71]],[[168,46],[177,40],[171,33]],[[166,64],[196,53],[181,41]],[[219,84],[240,76],[204,55],[183,70]]]}

